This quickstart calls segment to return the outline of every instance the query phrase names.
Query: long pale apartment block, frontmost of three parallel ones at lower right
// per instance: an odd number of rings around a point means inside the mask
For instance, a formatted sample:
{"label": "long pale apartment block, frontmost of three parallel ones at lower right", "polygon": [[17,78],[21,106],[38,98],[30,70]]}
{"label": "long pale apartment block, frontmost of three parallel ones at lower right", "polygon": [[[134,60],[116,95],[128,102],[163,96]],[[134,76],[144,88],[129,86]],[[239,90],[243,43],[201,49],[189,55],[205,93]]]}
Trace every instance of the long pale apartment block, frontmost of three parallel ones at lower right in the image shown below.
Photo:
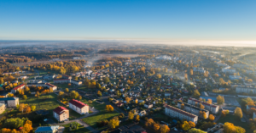
{"label": "long pale apartment block, frontmost of three parallel ones at lower right", "polygon": [[187,119],[188,121],[194,122],[195,125],[197,124],[197,120],[198,120],[197,115],[189,114],[186,111],[183,111],[179,108],[174,108],[169,105],[165,105],[165,107],[166,107],[166,115],[171,116],[173,118],[177,118],[177,119]]}

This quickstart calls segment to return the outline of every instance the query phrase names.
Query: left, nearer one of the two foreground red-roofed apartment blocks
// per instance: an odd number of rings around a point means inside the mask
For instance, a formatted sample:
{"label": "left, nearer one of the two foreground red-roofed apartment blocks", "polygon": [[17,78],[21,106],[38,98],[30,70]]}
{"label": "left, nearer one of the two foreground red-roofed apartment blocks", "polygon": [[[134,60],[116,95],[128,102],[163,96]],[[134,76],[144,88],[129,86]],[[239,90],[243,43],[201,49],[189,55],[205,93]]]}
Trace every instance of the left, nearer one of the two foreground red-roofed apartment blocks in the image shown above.
{"label": "left, nearer one of the two foreground red-roofed apartment blocks", "polygon": [[53,115],[54,118],[58,121],[65,121],[69,118],[69,110],[67,108],[59,106],[53,110]]}

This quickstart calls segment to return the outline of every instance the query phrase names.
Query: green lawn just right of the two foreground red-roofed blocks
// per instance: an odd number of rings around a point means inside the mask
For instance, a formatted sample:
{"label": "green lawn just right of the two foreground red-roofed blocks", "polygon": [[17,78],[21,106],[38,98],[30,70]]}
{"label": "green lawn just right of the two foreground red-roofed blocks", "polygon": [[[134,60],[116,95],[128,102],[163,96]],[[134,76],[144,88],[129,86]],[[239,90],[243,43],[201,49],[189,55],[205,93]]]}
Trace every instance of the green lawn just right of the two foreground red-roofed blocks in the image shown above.
{"label": "green lawn just right of the two foreground red-roofed blocks", "polygon": [[85,118],[85,119],[82,119],[86,124],[92,126],[93,128],[96,128],[97,125],[96,125],[96,122],[97,121],[101,121],[103,119],[112,119],[114,116],[117,116],[119,115],[119,113],[117,112],[106,112],[106,111],[102,111],[96,115],[93,115],[93,116],[90,116],[88,118]]}

